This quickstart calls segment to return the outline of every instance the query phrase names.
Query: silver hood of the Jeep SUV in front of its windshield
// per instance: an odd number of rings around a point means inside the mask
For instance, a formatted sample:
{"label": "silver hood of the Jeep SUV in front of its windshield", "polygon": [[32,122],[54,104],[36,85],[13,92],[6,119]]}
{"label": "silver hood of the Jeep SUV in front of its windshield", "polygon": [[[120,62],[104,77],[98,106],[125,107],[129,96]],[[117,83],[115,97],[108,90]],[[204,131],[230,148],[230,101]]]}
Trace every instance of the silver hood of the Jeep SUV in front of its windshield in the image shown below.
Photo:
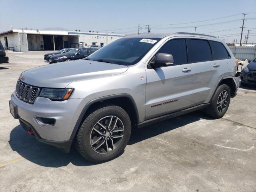
{"label": "silver hood of the Jeep SUV in front of its windshield", "polygon": [[120,74],[127,66],[90,61],[75,60],[32,68],[22,72],[21,81],[38,87],[65,88],[74,81],[86,80]]}

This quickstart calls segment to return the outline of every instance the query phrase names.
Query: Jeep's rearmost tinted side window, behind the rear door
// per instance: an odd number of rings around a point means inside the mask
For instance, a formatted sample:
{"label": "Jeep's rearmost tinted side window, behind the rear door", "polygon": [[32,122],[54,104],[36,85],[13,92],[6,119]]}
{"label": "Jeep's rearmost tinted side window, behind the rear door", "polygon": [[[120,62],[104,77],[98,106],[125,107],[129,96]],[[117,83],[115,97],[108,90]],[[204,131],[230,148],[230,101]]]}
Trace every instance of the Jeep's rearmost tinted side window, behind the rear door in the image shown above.
{"label": "Jeep's rearmost tinted side window, behind the rear door", "polygon": [[212,48],[212,58],[213,59],[226,59],[229,58],[229,54],[224,47],[224,45],[220,42],[210,41]]}

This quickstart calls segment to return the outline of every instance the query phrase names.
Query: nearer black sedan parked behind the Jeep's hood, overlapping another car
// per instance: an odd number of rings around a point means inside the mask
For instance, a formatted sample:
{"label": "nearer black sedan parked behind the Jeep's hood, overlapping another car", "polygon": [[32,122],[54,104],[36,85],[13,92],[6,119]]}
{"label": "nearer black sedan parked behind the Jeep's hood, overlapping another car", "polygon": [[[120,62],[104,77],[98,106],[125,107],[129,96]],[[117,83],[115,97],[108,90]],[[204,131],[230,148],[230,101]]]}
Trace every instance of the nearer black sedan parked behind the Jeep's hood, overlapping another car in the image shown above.
{"label": "nearer black sedan parked behind the Jeep's hood, overlapping another car", "polygon": [[58,54],[50,57],[50,63],[63,62],[63,61],[71,61],[77,59],[83,59],[94,53],[96,49],[92,48],[75,48],[70,50],[66,54]]}

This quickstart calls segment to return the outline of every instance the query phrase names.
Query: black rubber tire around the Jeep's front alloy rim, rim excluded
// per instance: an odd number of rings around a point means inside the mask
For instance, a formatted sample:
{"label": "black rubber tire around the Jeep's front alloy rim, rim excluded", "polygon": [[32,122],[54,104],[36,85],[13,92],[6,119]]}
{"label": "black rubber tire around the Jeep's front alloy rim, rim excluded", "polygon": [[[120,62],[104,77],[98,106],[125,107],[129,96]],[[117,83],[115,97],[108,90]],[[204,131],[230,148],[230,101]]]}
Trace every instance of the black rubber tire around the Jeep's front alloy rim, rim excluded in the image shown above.
{"label": "black rubber tire around the Jeep's front alloy rim, rim excluded", "polygon": [[[114,148],[114,150],[106,154],[100,154],[96,152],[91,146],[91,132],[97,122],[102,118],[105,118],[106,116],[118,117],[122,121],[122,124],[124,126],[124,132],[122,140],[120,140],[120,143],[116,148]],[[130,139],[130,134],[131,122],[126,111],[119,106],[109,104],[98,107],[86,117],[78,131],[75,146],[78,152],[86,160],[94,163],[102,163],[116,158],[124,151],[124,148],[126,147]],[[106,135],[105,138],[107,138]]]}

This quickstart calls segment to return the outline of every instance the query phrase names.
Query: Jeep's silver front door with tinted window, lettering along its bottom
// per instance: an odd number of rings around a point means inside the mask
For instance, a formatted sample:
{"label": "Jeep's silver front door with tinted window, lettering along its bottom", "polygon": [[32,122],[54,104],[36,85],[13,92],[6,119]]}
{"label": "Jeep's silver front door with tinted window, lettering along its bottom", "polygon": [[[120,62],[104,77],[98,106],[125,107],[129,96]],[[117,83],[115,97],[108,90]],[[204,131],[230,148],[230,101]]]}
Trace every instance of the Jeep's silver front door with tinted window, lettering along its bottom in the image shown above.
{"label": "Jeep's silver front door with tinted window, lettering along its bottom", "polygon": [[146,119],[194,105],[191,94],[196,79],[194,65],[187,62],[186,39],[169,40],[157,53],[172,54],[174,64],[146,68]]}

